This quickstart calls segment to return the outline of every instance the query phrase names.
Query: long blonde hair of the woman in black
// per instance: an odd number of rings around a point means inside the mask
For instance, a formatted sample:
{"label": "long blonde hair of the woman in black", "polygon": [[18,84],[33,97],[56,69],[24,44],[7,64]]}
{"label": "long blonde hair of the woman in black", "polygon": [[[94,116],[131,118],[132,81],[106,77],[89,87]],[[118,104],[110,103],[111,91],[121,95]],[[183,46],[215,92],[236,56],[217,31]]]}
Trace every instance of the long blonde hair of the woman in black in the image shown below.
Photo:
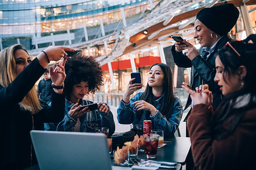
{"label": "long blonde hair of the woman in black", "polygon": [[[15,71],[16,64],[14,57],[15,51],[18,49],[22,49],[27,52],[27,50],[19,44],[6,47],[0,52],[0,85],[3,87],[7,87],[11,82],[14,81],[16,76],[18,76]],[[36,94],[35,86],[33,86],[30,92],[27,93],[22,102],[19,102],[19,106],[20,109],[28,110],[32,114],[38,113],[42,109],[39,98]]]}

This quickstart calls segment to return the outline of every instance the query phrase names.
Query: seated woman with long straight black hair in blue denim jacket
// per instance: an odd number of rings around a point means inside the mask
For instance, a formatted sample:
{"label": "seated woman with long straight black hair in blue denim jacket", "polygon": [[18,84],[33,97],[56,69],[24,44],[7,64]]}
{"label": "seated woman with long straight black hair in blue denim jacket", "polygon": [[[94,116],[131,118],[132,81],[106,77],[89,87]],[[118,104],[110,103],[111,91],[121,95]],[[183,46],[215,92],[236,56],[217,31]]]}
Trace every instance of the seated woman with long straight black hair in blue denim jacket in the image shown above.
{"label": "seated woman with long straight black hair in blue denim jacket", "polygon": [[147,78],[147,87],[143,93],[130,98],[141,83],[129,85],[117,109],[117,119],[121,124],[142,125],[144,120],[152,121],[152,129],[164,131],[164,136],[173,136],[182,117],[182,105],[174,96],[171,68],[163,63],[151,66]]}

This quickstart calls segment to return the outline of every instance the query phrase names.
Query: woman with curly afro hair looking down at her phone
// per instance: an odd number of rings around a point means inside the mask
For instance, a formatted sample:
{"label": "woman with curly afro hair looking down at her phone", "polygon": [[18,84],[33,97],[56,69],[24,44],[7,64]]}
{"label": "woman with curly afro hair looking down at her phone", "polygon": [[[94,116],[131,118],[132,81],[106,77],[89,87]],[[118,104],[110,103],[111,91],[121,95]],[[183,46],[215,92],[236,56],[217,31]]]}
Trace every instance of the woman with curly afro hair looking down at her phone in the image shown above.
{"label": "woman with curly afro hair looking down at her phone", "polygon": [[83,105],[93,103],[84,99],[102,85],[102,70],[93,57],[70,57],[65,65],[65,117],[57,125],[57,131],[96,132],[96,128],[108,127],[109,135],[115,131],[115,123],[110,107],[100,102],[97,110]]}

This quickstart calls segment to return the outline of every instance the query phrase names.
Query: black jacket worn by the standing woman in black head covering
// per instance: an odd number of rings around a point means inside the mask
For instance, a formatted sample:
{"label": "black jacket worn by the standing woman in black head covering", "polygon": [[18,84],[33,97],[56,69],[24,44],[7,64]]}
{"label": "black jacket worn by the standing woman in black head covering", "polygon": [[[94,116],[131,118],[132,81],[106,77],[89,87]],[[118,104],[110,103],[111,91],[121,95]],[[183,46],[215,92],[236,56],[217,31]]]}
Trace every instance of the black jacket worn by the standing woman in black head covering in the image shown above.
{"label": "black jacket worn by the standing woman in black head covering", "polygon": [[[214,51],[210,54],[207,59],[204,59],[205,52],[200,48],[199,54],[193,60],[190,60],[185,54],[183,55],[182,52],[175,51],[175,45],[172,46],[171,52],[174,56],[174,62],[177,67],[182,68],[191,68],[191,88],[193,90],[196,87],[199,87],[202,84],[208,84],[209,90],[212,91],[213,94],[213,109],[215,110],[218,104],[222,100],[222,93],[220,91],[220,87],[217,85],[217,82],[214,82],[214,76],[216,73],[215,69],[215,58],[214,54],[221,49],[226,42],[231,40],[228,35],[222,36],[222,38],[216,44]],[[185,109],[191,105],[191,98],[188,97],[188,101],[185,105]],[[184,110],[185,110],[184,109]]]}

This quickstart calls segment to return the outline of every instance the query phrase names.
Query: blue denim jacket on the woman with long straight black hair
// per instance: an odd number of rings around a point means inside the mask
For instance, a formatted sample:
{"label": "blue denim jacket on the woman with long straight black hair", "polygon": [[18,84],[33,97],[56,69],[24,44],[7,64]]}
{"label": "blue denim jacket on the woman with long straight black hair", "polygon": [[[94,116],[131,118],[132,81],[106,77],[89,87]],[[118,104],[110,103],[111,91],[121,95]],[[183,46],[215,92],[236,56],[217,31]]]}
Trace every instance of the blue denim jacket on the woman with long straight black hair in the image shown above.
{"label": "blue denim jacket on the woman with long straight black hair", "polygon": [[[146,111],[144,111],[142,118],[138,120],[136,118],[136,109],[134,108],[134,105],[132,105],[132,103],[139,100],[139,97],[141,97],[142,94],[143,93],[136,94],[133,98],[130,99],[130,103],[125,103],[123,101],[120,102],[120,106],[117,109],[117,119],[119,123],[133,123],[134,125],[139,124],[143,127],[143,121],[147,120]],[[151,104],[158,110],[163,102],[163,96],[161,96]],[[152,129],[161,129],[164,131],[164,136],[173,136],[174,132],[179,126],[182,114],[183,111],[180,99],[175,97],[174,109],[172,110],[172,113],[168,119],[164,117],[159,110],[155,115],[150,115],[150,120],[152,121]]]}

